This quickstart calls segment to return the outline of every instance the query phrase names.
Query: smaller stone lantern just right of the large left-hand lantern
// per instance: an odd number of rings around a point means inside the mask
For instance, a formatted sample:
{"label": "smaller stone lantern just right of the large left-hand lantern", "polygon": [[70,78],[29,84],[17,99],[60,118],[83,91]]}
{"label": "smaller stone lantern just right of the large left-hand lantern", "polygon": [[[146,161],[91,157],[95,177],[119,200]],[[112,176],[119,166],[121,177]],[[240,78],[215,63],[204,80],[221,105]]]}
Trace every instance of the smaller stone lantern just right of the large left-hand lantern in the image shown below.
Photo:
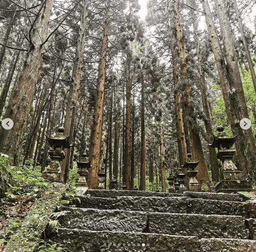
{"label": "smaller stone lantern just right of the large left-hand lantern", "polygon": [[80,161],[76,161],[76,164],[79,169],[77,173],[80,175],[80,178],[75,185],[87,187],[88,173],[91,168],[91,162],[88,161],[87,154],[82,154],[82,159]]}

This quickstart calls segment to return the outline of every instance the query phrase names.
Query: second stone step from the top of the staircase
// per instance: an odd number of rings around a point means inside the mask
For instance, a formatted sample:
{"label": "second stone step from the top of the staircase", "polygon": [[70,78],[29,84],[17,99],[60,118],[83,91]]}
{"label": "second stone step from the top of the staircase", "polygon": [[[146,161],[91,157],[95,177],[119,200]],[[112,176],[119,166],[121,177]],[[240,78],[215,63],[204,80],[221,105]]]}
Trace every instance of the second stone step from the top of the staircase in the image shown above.
{"label": "second stone step from the top of the staircase", "polygon": [[[198,213],[238,215],[248,217],[248,203],[211,199],[187,199],[185,197],[131,197],[116,198],[79,197],[80,208],[101,210],[125,210],[166,213]],[[252,214],[254,216],[254,214]],[[254,218],[254,217],[253,217]]]}

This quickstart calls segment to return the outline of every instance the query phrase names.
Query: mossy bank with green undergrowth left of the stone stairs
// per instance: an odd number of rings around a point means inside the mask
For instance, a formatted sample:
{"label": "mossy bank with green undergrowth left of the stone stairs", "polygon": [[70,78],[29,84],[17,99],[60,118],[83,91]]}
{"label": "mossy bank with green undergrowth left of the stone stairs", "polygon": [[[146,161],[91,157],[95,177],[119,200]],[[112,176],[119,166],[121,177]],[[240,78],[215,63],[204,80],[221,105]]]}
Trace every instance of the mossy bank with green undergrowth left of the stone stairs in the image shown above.
{"label": "mossy bank with green undergrowth left of the stone stairs", "polygon": [[[12,175],[12,183],[0,199],[0,251],[68,252],[61,244],[44,240],[46,225],[58,226],[58,217],[67,211],[62,206],[78,203],[75,196],[77,171],[71,171],[70,183],[51,183],[42,178],[41,167],[12,166],[12,160],[0,158]],[[56,212],[57,211],[57,212]]]}

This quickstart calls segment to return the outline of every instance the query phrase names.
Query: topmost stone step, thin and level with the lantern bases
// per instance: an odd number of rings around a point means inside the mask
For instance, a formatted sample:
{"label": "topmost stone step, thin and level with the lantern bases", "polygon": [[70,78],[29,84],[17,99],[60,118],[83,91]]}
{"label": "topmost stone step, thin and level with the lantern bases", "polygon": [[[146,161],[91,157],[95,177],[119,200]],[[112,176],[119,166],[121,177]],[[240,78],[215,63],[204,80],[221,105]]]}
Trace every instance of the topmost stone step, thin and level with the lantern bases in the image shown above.
{"label": "topmost stone step, thin and level with the lantern bases", "polygon": [[208,192],[184,192],[178,193],[162,193],[162,192],[144,192],[144,191],[127,191],[127,190],[92,190],[86,191],[86,195],[100,198],[116,198],[120,196],[133,197],[187,197],[192,199],[212,199],[221,201],[239,201],[244,202],[249,198],[242,194],[226,194],[226,193],[208,193]]}

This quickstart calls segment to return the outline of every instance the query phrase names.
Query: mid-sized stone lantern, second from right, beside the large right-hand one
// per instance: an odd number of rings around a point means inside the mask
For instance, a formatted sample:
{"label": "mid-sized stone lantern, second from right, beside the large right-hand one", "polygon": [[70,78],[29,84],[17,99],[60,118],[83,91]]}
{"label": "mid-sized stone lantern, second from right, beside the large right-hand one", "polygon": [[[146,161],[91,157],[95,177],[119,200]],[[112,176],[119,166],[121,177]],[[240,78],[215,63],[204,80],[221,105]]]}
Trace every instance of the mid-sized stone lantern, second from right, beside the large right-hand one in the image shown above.
{"label": "mid-sized stone lantern, second from right, beside the large right-hand one", "polygon": [[183,165],[184,168],[187,169],[187,176],[189,177],[188,182],[188,189],[189,191],[200,191],[201,186],[198,183],[197,180],[197,173],[196,167],[198,166],[199,161],[194,162],[192,154],[187,154],[187,160],[185,161],[185,164]]}

